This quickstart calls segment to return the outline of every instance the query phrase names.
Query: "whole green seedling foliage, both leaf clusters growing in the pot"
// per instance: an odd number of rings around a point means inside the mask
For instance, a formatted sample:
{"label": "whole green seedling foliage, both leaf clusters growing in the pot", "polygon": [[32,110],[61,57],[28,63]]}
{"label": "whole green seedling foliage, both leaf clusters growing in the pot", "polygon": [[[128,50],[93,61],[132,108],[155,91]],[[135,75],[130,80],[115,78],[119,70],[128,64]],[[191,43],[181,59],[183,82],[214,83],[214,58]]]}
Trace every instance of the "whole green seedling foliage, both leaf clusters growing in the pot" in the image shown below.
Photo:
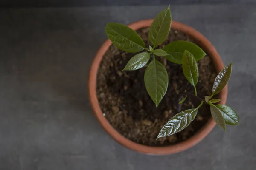
{"label": "whole green seedling foliage, both leaf clusters growing in the pot", "polygon": [[165,57],[170,62],[182,64],[184,76],[194,86],[195,95],[185,91],[185,97],[181,99],[180,104],[186,100],[186,96],[191,96],[193,99],[201,101],[201,104],[196,108],[181,111],[173,116],[160,130],[157,138],[173,135],[186,128],[195,119],[198,109],[203,103],[210,105],[212,117],[222,129],[226,130],[226,124],[238,125],[239,118],[236,112],[228,106],[215,105],[220,99],[212,99],[214,95],[218,94],[227,85],[231,75],[232,62],[225,66],[217,75],[213,83],[211,96],[205,96],[205,99],[199,98],[196,91],[199,77],[196,62],[207,54],[194,43],[187,41],[174,41],[163,49],[155,49],[166,40],[171,28],[171,22],[171,11],[170,6],[168,6],[168,8],[157,15],[149,28],[149,40],[153,48],[149,46],[148,49],[145,47],[145,43],[140,36],[128,26],[119,23],[108,23],[105,28],[108,38],[120,50],[131,53],[146,50],[146,52],[140,52],[132,57],[123,71],[138,70],[147,65],[152,57],[145,69],[144,82],[146,90],[156,107],[166,94],[169,77],[166,68],[161,62],[157,61],[155,56]]}

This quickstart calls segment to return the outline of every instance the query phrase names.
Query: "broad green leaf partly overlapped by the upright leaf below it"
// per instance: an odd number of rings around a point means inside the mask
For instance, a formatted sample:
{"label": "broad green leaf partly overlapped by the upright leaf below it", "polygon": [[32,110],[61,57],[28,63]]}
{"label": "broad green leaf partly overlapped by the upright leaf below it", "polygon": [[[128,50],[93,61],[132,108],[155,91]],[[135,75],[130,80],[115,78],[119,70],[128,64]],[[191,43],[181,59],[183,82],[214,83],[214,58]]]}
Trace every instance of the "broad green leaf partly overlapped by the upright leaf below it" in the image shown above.
{"label": "broad green leaf partly overlapped by the upright leaf below it", "polygon": [[182,64],[183,52],[185,50],[189,51],[195,57],[196,61],[200,60],[206,55],[206,53],[200,47],[188,41],[171,42],[170,44],[166,45],[163,50],[169,54],[169,56],[165,56],[165,58],[176,64]]}

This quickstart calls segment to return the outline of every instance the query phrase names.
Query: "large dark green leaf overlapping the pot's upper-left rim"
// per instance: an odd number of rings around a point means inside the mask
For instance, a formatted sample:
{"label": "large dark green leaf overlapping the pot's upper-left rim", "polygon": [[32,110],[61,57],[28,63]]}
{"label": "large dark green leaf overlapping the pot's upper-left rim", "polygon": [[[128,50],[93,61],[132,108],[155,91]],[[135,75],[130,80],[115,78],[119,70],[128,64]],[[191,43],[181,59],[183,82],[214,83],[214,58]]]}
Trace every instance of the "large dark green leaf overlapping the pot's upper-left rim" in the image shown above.
{"label": "large dark green leaf overlapping the pot's upper-left rim", "polygon": [[135,53],[145,49],[143,40],[128,26],[119,23],[108,23],[105,31],[113,44],[122,51]]}

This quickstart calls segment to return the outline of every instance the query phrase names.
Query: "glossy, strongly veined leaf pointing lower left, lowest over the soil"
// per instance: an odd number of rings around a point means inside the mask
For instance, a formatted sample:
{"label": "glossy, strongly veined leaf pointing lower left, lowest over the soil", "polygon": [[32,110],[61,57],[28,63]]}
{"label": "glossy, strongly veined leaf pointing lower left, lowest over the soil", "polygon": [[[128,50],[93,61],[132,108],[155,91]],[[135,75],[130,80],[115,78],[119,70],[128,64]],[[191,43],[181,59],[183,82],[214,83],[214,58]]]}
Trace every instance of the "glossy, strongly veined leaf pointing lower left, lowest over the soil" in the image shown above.
{"label": "glossy, strongly veined leaf pointing lower left, lowest over the soil", "polygon": [[186,128],[198,113],[198,108],[182,111],[172,117],[160,130],[157,138],[173,135]]}

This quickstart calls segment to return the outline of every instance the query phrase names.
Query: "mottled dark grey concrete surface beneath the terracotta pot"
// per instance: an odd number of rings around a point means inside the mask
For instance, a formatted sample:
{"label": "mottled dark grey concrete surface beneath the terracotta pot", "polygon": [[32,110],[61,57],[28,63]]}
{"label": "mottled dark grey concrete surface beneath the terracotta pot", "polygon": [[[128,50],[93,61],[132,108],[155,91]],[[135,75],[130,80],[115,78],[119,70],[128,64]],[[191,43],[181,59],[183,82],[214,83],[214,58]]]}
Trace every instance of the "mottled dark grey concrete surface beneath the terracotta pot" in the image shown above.
{"label": "mottled dark grey concrete surface beneath the terracotta pot", "polygon": [[218,127],[182,153],[148,156],[117,144],[87,98],[105,24],[152,18],[166,6],[0,10],[0,170],[254,170],[255,5],[172,6],[233,61],[227,105],[240,125]]}

